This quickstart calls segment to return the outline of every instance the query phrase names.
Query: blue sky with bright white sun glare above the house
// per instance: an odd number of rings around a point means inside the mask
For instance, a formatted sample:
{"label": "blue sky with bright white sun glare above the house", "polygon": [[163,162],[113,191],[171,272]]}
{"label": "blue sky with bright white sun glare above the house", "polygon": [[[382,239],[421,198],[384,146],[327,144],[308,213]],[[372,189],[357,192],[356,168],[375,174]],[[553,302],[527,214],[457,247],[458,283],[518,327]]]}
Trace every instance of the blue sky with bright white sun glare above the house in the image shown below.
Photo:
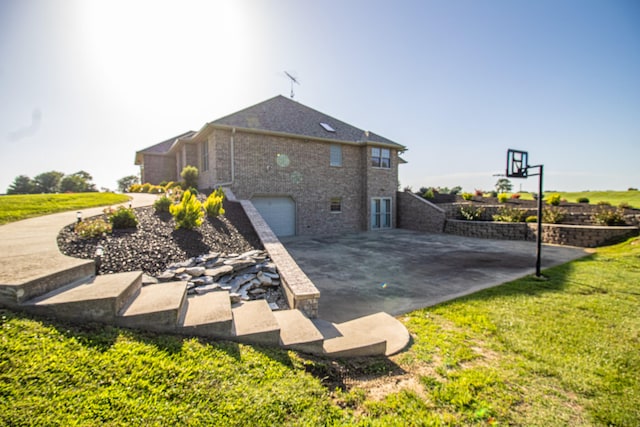
{"label": "blue sky with bright white sun glare above the house", "polygon": [[[0,193],[139,172],[141,150],[276,95],[408,148],[400,186],[640,187],[637,0],[0,0]],[[535,177],[512,180],[536,191]]]}

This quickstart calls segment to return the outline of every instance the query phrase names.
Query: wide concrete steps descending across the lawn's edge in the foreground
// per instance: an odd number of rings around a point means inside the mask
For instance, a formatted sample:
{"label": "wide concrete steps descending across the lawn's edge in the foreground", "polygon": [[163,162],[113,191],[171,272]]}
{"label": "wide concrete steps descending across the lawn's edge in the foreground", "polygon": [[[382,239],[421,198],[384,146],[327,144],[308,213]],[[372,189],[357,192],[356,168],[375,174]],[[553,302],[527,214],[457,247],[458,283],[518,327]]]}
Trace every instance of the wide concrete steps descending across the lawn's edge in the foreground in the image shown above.
{"label": "wide concrete steps descending across the lawn's edge in the foreground", "polygon": [[232,306],[227,291],[187,295],[186,282],[142,286],[141,280],[141,272],[85,278],[20,308],[76,322],[280,346],[332,358],[390,355],[410,339],[386,313],[334,324],[308,319],[300,310],[272,311],[265,300]]}

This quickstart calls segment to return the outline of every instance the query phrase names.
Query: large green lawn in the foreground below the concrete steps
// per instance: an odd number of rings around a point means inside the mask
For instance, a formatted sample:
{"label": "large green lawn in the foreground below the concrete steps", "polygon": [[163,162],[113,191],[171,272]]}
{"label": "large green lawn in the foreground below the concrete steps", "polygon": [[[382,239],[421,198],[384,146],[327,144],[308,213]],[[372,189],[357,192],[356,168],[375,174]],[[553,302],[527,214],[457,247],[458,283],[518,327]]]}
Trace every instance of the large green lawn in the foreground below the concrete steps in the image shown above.
{"label": "large green lawn in the foreground below the concrete steps", "polygon": [[640,424],[640,239],[401,317],[330,361],[0,311],[0,425]]}

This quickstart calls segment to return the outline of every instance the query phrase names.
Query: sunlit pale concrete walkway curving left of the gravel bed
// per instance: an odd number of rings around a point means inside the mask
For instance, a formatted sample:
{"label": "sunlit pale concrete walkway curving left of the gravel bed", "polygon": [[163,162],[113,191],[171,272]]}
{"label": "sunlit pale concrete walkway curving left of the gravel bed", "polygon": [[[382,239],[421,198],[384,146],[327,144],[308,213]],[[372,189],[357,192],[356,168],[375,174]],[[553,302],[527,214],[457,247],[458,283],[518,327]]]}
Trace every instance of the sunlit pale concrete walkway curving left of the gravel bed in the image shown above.
{"label": "sunlit pale concrete walkway curving left of the gravel bed", "polygon": [[[153,194],[129,194],[133,207],[152,205]],[[128,205],[123,203],[122,205]],[[119,206],[119,205],[114,205]],[[100,215],[104,207],[82,209],[82,217]],[[76,211],[29,218],[0,226],[0,284],[17,285],[50,271],[74,268],[86,260],[70,258],[58,249],[60,230],[76,221]]]}

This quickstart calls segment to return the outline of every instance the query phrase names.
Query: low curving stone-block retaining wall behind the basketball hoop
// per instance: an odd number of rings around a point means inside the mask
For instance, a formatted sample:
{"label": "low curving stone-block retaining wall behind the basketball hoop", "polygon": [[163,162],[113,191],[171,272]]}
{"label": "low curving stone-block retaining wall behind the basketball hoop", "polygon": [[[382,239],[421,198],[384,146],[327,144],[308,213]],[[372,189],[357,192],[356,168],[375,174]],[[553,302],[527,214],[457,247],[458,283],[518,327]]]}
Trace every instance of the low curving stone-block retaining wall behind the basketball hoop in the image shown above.
{"label": "low curving stone-block retaining wall behind the basketball hoop", "polygon": [[[449,219],[445,233],[495,240],[535,241],[538,225],[524,222],[463,221]],[[542,241],[555,245],[595,248],[637,236],[636,226],[542,224]]]}

